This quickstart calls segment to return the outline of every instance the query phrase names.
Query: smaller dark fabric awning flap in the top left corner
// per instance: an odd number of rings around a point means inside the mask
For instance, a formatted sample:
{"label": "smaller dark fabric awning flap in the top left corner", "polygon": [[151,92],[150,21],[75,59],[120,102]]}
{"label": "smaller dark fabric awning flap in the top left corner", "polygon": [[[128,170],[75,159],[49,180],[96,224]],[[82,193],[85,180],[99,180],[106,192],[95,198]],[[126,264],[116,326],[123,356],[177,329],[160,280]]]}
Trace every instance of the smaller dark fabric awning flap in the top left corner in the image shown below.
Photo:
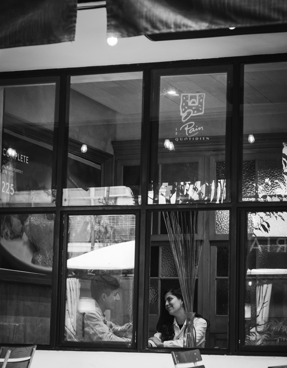
{"label": "smaller dark fabric awning flap in the top left corner", "polygon": [[1,2],[0,49],[73,41],[77,0]]}

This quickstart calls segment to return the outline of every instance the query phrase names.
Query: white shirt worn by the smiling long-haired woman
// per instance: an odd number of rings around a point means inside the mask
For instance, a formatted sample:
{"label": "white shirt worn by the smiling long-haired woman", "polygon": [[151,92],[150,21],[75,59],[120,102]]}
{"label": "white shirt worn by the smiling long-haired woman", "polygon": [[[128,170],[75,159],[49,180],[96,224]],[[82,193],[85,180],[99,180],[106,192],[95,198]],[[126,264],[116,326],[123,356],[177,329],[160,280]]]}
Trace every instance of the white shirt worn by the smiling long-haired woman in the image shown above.
{"label": "white shirt worn by the smiling long-haired woman", "polygon": [[[193,323],[194,323],[194,328],[196,331],[196,347],[199,347],[199,348],[204,347],[207,323],[205,319],[198,318],[198,317],[194,318]],[[184,347],[184,344],[186,343],[186,333],[184,333],[185,326],[186,326],[186,321],[184,321],[184,324],[182,328],[180,329],[176,322],[176,318],[174,318],[173,320],[174,337],[172,340],[164,341],[163,347]],[[157,332],[155,333],[154,336],[160,339],[160,335],[161,333]],[[162,339],[160,340],[162,341]],[[149,340],[149,343],[153,347],[156,347],[156,344],[152,340]]]}

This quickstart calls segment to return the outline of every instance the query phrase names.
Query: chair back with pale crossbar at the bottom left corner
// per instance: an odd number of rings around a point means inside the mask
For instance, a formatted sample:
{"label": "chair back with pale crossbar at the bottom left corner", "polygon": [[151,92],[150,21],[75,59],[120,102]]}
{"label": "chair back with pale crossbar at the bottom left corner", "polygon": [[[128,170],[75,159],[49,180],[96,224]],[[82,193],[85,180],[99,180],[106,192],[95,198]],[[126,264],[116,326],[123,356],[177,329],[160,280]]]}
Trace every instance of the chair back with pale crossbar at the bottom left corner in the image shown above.
{"label": "chair back with pale crossbar at the bottom left corner", "polygon": [[31,365],[36,347],[37,345],[1,347],[0,348],[0,368],[29,368]]}

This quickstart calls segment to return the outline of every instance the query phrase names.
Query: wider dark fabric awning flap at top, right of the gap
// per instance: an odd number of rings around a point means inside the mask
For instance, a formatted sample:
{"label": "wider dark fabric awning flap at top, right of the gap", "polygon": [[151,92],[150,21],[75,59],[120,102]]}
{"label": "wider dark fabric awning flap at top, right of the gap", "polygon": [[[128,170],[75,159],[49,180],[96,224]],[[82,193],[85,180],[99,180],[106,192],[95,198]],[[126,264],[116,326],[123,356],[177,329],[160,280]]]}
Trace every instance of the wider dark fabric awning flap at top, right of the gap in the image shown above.
{"label": "wider dark fabric awning flap at top, right of the gap", "polygon": [[286,0],[107,0],[106,8],[107,37],[280,25],[287,30]]}

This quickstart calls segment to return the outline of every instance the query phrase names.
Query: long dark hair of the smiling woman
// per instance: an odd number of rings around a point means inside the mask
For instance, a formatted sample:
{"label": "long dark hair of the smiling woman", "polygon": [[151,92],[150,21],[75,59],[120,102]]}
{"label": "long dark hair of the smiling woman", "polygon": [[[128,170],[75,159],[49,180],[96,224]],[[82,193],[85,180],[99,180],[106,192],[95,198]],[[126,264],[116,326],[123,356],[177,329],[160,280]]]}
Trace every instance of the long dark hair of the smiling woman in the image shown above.
{"label": "long dark hair of the smiling woman", "polygon": [[[183,301],[183,294],[181,293],[181,290],[176,287],[172,287],[171,289],[165,290],[162,294],[162,300],[160,305],[160,315],[159,315],[159,321],[156,325],[157,332],[160,332],[160,338],[162,341],[169,341],[172,340],[174,337],[174,329],[173,329],[173,321],[174,316],[170,315],[169,312],[166,310],[166,302],[164,300],[164,297],[167,293],[173,294],[178,299],[181,299]],[[195,317],[203,318],[200,314],[195,313]],[[205,318],[204,318],[205,319]],[[209,321],[205,319],[207,322],[207,326],[209,327]]]}

